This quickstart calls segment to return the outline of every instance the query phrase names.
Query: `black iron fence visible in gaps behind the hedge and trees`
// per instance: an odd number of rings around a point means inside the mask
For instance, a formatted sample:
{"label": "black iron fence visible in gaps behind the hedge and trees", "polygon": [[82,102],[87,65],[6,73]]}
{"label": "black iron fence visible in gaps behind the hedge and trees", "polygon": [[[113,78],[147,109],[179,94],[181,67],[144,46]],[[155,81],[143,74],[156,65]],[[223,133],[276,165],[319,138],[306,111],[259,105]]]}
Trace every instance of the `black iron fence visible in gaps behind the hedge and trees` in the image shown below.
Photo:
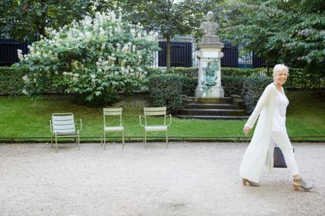
{"label": "black iron fence visible in gaps behind the hedge and trees", "polygon": [[[160,40],[161,51],[154,54],[153,67],[166,66],[167,47],[166,41]],[[28,53],[28,41],[16,42],[11,39],[0,39],[0,66],[11,66],[19,61],[17,49],[21,49],[23,54]],[[193,37],[181,37],[178,41],[171,42],[171,66],[172,67],[198,67],[197,49]],[[222,67],[229,68],[261,68],[266,64],[263,57],[255,56],[251,53],[239,54],[238,45],[232,46],[231,42],[225,42],[222,49],[224,57],[221,59]]]}

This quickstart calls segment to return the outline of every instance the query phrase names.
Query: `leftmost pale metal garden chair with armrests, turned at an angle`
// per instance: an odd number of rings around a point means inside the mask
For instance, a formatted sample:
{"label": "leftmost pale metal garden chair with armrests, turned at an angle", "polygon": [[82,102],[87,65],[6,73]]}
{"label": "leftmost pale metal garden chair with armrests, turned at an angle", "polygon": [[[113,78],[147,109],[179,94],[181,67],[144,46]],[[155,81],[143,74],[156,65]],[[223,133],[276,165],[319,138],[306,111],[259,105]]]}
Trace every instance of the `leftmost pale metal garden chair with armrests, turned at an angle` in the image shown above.
{"label": "leftmost pale metal garden chair with armrests, turned at an angle", "polygon": [[52,121],[50,120],[51,146],[53,148],[53,138],[55,138],[55,150],[57,152],[57,138],[74,138],[74,142],[78,145],[80,150],[80,136],[82,130],[82,122],[80,119],[80,130],[76,130],[74,123],[74,114],[72,113],[54,113],[52,114]]}

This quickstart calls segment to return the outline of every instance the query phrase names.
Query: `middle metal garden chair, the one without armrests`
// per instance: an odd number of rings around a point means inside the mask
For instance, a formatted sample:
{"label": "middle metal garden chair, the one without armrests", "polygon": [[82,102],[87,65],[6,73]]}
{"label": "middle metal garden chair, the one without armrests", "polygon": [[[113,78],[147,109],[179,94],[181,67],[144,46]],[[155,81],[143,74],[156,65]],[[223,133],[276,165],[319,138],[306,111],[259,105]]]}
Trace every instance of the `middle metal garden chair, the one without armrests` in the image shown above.
{"label": "middle metal garden chair, the one without armrests", "polygon": [[[122,126],[122,108],[103,108],[104,116],[104,126],[103,126],[103,135],[101,137],[101,145],[103,145],[104,140],[104,149],[106,149],[106,132],[118,132],[122,131],[122,148],[124,148],[124,126]],[[108,125],[106,123],[106,118],[108,116],[120,116],[120,124],[118,126],[113,126],[113,124]]]}

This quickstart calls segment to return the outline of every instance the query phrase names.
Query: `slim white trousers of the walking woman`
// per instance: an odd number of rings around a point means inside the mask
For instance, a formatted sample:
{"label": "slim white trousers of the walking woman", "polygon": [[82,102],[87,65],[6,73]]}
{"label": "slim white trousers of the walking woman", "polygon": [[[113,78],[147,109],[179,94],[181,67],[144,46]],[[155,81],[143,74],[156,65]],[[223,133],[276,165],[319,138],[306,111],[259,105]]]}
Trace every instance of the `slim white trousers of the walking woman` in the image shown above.
{"label": "slim white trousers of the walking woman", "polygon": [[292,176],[299,174],[298,167],[295,160],[295,155],[293,153],[292,145],[290,143],[289,137],[286,132],[272,132],[271,138],[273,142],[278,145],[278,147],[283,152],[285,157],[285,164],[290,170]]}

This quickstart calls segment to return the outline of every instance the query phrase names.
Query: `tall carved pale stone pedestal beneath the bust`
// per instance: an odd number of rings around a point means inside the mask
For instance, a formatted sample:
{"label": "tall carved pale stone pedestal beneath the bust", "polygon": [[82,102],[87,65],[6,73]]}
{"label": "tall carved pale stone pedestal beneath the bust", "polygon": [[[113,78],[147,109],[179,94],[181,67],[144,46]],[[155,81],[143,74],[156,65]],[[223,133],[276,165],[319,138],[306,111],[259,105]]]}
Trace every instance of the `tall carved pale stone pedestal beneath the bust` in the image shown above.
{"label": "tall carved pale stone pedestal beneath the bust", "polygon": [[[219,37],[217,36],[203,36],[203,42],[198,44],[199,70],[198,86],[195,89],[195,97],[224,97],[224,90],[221,85],[220,65],[220,59],[224,56],[224,54],[221,52],[223,47],[224,43],[219,42]],[[215,80],[215,85],[206,90],[205,86],[203,85],[206,80],[205,68],[211,59],[217,63],[217,79]]]}

